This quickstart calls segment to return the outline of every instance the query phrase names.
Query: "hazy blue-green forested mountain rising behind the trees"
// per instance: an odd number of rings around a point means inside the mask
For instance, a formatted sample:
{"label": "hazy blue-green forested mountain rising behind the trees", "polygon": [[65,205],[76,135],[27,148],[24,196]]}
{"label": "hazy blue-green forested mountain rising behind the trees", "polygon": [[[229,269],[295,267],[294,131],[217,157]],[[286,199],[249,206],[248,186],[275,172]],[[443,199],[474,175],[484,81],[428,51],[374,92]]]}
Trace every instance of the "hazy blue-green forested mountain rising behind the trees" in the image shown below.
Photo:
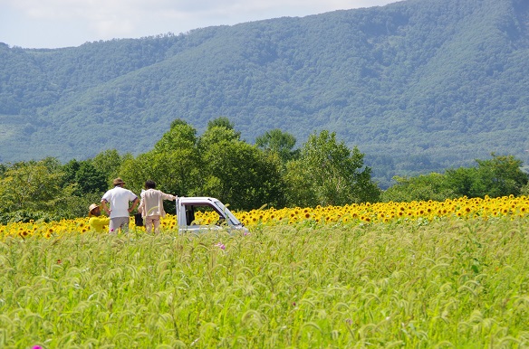
{"label": "hazy blue-green forested mountain rising behind the trees", "polygon": [[[16,42],[13,42],[15,44]],[[380,178],[529,162],[529,2],[407,0],[34,50],[0,44],[0,162],[140,154],[172,120],[335,131]]]}

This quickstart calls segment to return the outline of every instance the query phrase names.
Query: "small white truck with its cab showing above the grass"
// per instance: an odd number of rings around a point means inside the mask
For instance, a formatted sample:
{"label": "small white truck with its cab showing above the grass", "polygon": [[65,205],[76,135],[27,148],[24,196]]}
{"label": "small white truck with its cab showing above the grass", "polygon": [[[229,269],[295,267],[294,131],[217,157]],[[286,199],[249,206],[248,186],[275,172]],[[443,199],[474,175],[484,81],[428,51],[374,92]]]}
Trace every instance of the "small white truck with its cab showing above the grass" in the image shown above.
{"label": "small white truck with its cab showing above the grass", "polygon": [[[177,220],[179,232],[205,232],[205,231],[240,231],[249,232],[244,224],[236,219],[236,216],[228,208],[214,197],[190,196],[177,198]],[[215,212],[216,222],[203,224],[197,222],[195,213],[198,211]]]}

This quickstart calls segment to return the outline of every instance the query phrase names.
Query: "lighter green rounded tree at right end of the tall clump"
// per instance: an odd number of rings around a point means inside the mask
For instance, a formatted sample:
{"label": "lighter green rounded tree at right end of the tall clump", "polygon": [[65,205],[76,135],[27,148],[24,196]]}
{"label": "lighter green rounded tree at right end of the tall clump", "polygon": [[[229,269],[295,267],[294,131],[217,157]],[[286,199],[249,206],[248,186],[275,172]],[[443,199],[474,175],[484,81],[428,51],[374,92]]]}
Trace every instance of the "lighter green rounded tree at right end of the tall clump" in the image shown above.
{"label": "lighter green rounded tree at right end of the tall clump", "polygon": [[[302,147],[299,164],[288,167],[289,197],[295,197],[293,188],[304,185],[305,192],[312,194],[303,196],[315,198],[313,203],[304,203],[311,206],[378,201],[380,189],[371,181],[370,167],[363,165],[363,156],[356,146],[351,151],[343,142],[337,143],[334,132],[323,130],[311,135]],[[293,170],[299,172],[293,174]]]}

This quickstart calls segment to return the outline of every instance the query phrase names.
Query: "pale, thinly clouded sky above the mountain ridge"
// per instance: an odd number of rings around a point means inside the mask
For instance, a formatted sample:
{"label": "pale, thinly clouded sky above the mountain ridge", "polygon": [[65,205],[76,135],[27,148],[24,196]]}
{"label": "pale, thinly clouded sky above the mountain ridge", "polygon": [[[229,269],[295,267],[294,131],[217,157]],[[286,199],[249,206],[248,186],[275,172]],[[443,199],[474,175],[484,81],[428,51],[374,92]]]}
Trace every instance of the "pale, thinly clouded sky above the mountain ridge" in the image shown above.
{"label": "pale, thinly clouded sky above the mountain ridge", "polygon": [[0,42],[62,48],[397,0],[0,0]]}

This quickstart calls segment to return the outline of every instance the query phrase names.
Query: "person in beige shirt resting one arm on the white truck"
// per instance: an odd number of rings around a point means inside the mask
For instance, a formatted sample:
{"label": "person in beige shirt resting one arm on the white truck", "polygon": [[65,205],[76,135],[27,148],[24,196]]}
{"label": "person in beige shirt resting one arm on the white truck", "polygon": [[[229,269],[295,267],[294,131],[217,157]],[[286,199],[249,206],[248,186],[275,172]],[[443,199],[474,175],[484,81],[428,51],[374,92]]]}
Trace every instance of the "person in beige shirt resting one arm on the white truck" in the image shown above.
{"label": "person in beige shirt resting one arm on the white truck", "polygon": [[138,211],[141,212],[141,217],[143,217],[145,230],[149,233],[154,226],[154,232],[158,234],[160,218],[166,215],[163,209],[163,201],[176,200],[177,196],[157,190],[156,183],[151,180],[145,182],[145,189],[139,195],[141,200],[139,201]]}

